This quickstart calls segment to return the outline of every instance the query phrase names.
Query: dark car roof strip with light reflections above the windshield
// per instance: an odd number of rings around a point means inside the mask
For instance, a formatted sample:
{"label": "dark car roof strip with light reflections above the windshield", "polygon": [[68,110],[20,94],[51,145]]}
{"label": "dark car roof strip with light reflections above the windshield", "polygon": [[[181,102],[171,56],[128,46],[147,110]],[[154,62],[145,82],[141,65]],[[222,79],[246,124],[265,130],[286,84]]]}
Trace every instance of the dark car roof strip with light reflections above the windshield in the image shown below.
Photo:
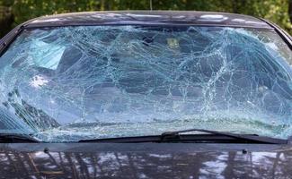
{"label": "dark car roof strip with light reflections above the windshield", "polygon": [[25,27],[74,25],[200,25],[272,29],[261,19],[235,13],[196,11],[116,11],[61,13],[24,23]]}

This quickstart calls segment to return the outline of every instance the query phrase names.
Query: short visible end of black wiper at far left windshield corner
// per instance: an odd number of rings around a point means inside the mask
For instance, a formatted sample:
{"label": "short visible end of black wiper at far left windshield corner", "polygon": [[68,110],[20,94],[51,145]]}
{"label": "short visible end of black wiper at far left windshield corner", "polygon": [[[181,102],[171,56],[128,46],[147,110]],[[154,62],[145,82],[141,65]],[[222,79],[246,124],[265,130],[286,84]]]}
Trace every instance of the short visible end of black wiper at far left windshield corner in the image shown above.
{"label": "short visible end of black wiper at far left windshield corner", "polygon": [[40,142],[31,137],[30,134],[0,133],[0,143],[35,143]]}

